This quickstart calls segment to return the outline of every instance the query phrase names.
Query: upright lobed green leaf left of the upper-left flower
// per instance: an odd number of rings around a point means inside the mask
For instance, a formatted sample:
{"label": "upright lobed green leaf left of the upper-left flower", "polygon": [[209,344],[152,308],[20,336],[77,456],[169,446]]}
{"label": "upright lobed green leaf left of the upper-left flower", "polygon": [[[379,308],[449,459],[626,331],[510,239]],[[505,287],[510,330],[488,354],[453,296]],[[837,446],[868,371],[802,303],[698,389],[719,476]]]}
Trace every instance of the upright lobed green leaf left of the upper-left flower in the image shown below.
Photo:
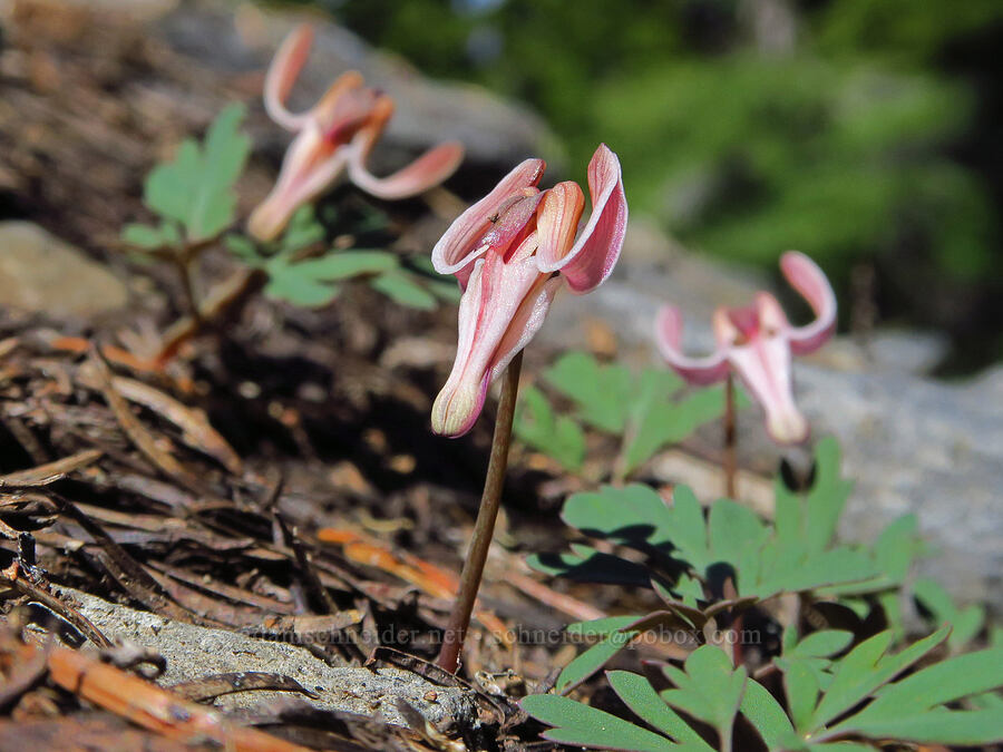
{"label": "upright lobed green leaf left of the upper-left flower", "polygon": [[236,212],[234,184],[251,152],[251,139],[241,131],[244,106],[226,107],[210,126],[202,144],[186,139],[174,158],[147,175],[143,201],[160,217],[156,226],[130,224],[123,240],[143,250],[197,243],[215,237],[233,224]]}

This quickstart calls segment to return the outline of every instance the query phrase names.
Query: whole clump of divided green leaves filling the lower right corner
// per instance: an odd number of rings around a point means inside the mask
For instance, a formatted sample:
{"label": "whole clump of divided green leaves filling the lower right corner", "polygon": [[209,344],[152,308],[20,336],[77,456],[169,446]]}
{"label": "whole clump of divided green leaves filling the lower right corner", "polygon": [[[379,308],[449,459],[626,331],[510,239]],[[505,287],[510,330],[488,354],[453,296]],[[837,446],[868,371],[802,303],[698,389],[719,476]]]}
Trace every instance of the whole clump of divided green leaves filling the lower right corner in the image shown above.
{"label": "whole clump of divided green leaves filling the lower right corner", "polygon": [[[733,663],[741,655],[737,647],[712,644],[722,625],[739,638],[743,614],[785,593],[800,594],[804,603],[837,596],[863,614],[876,604],[887,607],[883,598],[903,588],[921,550],[916,520],[893,523],[871,547],[839,545],[836,529],[850,488],[840,475],[839,447],[824,439],[810,489],[798,495],[778,482],[771,525],[729,499],[704,514],[685,487],[674,489],[671,504],[637,484],[571,496],[564,521],[603,540],[603,550],[573,544],[568,554],[530,557],[530,566],[586,582],[653,587],[663,607],[569,625],[569,635],[593,644],[564,668],[557,694],[526,697],[523,709],[553,726],[547,739],[616,750],[731,750],[739,729],[754,730],[768,750],[789,752],[871,750],[890,740],[1003,741],[1003,645],[991,639],[990,648],[934,661],[945,646],[953,653],[968,643],[984,612],[958,609],[931,580],[918,580],[914,594],[942,626],[897,651],[898,625],[873,636],[834,628],[799,635],[796,619],[783,631],[779,654],[767,656],[768,665],[752,677]],[[566,696],[660,627],[681,629],[697,644],[682,666],[650,662],[644,676],[606,673],[640,722]],[[652,678],[655,670],[661,682]]]}

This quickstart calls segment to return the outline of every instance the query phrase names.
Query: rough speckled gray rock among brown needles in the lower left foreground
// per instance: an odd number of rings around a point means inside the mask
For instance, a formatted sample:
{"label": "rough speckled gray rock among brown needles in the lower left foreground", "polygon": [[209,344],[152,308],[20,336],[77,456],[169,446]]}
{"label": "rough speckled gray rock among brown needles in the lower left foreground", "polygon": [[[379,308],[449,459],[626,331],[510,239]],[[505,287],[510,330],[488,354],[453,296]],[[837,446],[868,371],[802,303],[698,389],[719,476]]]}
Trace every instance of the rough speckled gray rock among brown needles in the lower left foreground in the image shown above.
{"label": "rough speckled gray rock among brown needles in the lower left foreground", "polygon": [[[417,674],[396,668],[332,667],[295,645],[174,622],[71,588],[59,589],[109,639],[128,641],[163,655],[167,671],[157,680],[162,685],[212,674],[264,671],[296,680],[317,697],[296,696],[321,710],[379,714],[389,723],[407,726],[396,705],[397,699],[402,699],[436,724],[474,717],[468,693],[437,686]],[[218,697],[215,706],[242,710],[290,696],[289,692],[237,692]]]}

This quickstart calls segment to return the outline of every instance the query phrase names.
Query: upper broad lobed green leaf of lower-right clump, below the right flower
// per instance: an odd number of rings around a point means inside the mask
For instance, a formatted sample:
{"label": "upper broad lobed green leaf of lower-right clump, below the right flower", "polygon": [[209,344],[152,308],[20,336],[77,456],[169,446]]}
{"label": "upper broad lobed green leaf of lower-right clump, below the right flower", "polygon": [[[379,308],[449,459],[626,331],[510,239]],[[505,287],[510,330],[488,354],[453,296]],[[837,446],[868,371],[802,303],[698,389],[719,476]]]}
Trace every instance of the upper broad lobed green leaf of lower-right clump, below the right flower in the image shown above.
{"label": "upper broad lobed green leaf of lower-right clump, below the right flower", "polygon": [[[778,482],[772,525],[730,499],[714,501],[704,517],[686,487],[676,487],[669,505],[656,491],[637,484],[575,494],[565,502],[562,518],[587,536],[645,554],[641,568],[647,578],[670,583],[670,611],[679,611],[675,600],[684,602],[686,594],[672,585],[683,573],[704,588],[731,579],[739,597],[757,599],[782,592],[860,595],[886,590],[902,582],[905,570],[883,567],[887,555],[882,549],[835,541],[849,490],[839,472],[839,448],[835,440],[824,439],[816,450],[816,480],[807,494],[793,495]],[[619,558],[576,546],[571,554],[536,555],[528,563],[576,579],[587,580],[596,573],[606,578],[623,576],[631,583],[645,579],[636,563],[614,564]],[[691,579],[683,582],[692,587]]]}

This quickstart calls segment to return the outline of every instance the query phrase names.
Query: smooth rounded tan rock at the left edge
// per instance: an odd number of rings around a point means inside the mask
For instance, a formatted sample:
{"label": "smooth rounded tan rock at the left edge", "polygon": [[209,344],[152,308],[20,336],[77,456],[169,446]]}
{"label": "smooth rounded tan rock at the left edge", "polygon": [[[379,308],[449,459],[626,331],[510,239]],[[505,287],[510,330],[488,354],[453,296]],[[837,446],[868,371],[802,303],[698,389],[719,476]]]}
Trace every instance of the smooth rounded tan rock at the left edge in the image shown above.
{"label": "smooth rounded tan rock at the left edge", "polygon": [[125,306],[125,284],[81,251],[30,222],[0,222],[0,301],[51,319],[92,318]]}

